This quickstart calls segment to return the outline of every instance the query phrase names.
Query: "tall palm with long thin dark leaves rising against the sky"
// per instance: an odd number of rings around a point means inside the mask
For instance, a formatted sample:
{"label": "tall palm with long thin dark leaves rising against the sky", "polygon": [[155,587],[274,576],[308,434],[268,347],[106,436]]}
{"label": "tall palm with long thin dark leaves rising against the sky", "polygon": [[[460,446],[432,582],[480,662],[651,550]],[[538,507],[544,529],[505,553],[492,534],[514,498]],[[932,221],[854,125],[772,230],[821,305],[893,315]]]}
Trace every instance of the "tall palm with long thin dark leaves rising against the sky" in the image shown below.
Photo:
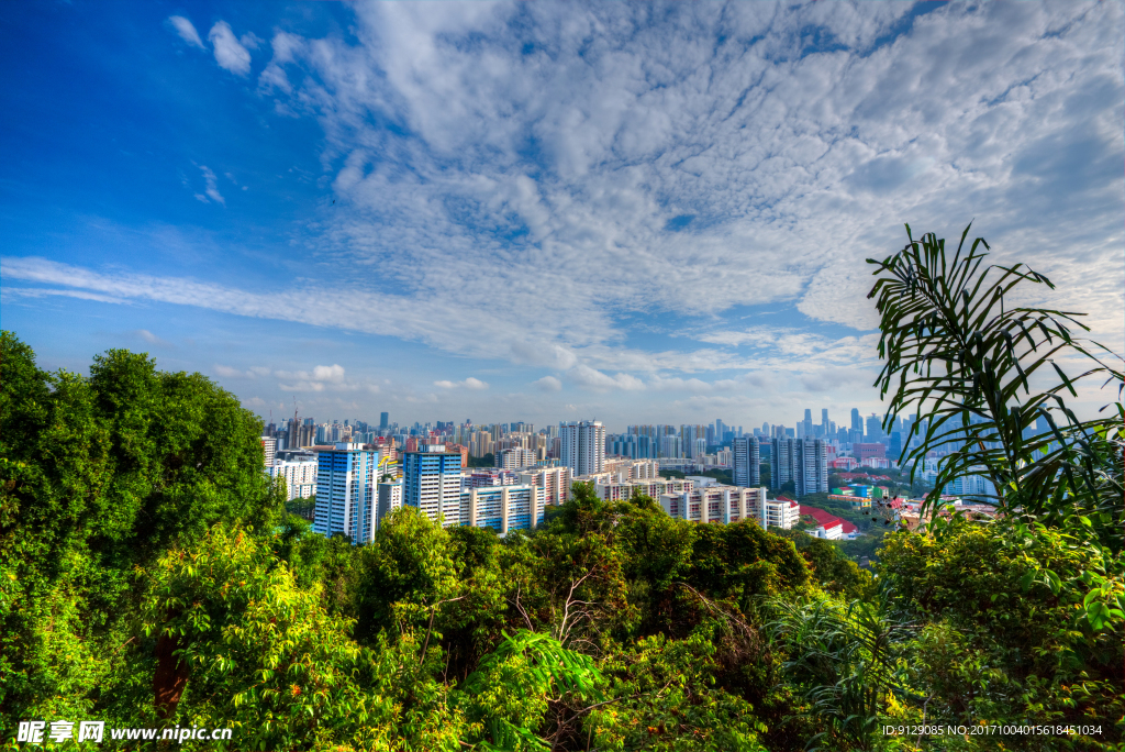
{"label": "tall palm with long thin dark leaves rising against the sky", "polygon": [[[1012,306],[1030,285],[1054,285],[1022,263],[984,266],[991,250],[978,238],[965,251],[969,227],[948,259],[945,240],[927,233],[875,265],[868,297],[881,314],[875,384],[891,394],[884,426],[917,412],[900,462],[911,481],[926,456],[952,444],[940,458],[924,514],[936,511],[950,482],[979,475],[993,491],[982,501],[1024,521],[1092,527],[1102,545],[1122,549],[1120,356],[1072,330],[1089,331],[1084,315]],[[1068,368],[1077,376],[1068,375]],[[1117,402],[1092,420],[1068,408],[1084,379],[1116,383]],[[1042,388],[1045,386],[1046,388]],[[911,446],[912,440],[918,442]]]}

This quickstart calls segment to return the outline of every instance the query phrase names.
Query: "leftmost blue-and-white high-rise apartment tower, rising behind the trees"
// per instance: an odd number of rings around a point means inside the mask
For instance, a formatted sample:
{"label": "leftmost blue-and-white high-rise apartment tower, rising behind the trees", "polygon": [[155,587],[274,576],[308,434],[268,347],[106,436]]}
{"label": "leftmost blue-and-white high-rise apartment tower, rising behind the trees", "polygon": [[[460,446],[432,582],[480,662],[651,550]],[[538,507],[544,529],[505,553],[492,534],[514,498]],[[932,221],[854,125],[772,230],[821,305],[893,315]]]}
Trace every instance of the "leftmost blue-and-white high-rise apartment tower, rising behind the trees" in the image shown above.
{"label": "leftmost blue-and-white high-rise apartment tower, rising behind the trees", "polygon": [[375,536],[375,474],[378,453],[359,444],[338,444],[317,453],[316,512],[313,530],[342,532],[352,543]]}

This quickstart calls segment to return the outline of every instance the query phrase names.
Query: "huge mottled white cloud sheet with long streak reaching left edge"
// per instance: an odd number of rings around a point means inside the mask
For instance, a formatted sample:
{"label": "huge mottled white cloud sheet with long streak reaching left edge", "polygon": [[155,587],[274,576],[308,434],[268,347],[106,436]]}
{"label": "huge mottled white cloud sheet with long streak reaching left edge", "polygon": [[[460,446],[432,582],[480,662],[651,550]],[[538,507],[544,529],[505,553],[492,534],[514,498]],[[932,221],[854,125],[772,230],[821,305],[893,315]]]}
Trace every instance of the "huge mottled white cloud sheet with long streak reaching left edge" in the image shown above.
{"label": "huge mottled white cloud sheet with long streak reaching left edge", "polygon": [[[858,390],[878,370],[864,260],[901,248],[903,221],[952,239],[975,216],[992,260],[1059,285],[1036,302],[1088,311],[1119,342],[1120,5],[910,12],[357,6],[353,34],[274,34],[258,78],[278,113],[323,127],[348,206],[295,240],[308,277],[267,293],[8,259],[3,292],[25,279],[71,288],[42,295],[393,332],[606,403],[650,388],[704,404],[832,385],[840,364]],[[225,23],[218,36],[242,53],[227,70],[249,74],[245,45]],[[316,277],[340,259],[378,271]],[[760,320],[744,308],[771,302],[803,317],[747,326]],[[650,332],[685,344],[632,337]]]}

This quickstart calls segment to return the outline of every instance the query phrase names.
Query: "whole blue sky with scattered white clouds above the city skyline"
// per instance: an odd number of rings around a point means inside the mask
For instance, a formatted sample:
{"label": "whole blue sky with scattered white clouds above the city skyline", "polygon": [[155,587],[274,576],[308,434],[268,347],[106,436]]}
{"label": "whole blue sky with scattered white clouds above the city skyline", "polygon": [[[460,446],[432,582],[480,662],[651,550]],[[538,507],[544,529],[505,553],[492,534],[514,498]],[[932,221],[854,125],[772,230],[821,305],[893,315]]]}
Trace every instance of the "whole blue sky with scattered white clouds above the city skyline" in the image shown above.
{"label": "whole blue sky with scattered white clouds above the city skyline", "polygon": [[[1120,351],[1120,3],[12,3],[3,328],[262,415],[879,409],[864,259],[975,218]],[[1108,401],[1083,394],[1090,404]]]}

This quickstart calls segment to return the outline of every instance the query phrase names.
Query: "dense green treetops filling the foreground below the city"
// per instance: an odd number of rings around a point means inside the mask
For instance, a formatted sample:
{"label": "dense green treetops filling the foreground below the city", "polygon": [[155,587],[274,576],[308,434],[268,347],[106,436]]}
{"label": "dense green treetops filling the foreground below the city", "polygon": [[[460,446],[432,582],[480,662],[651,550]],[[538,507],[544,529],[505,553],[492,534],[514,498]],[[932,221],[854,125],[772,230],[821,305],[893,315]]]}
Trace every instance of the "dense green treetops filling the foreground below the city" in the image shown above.
{"label": "dense green treetops filling the foreground below the city", "polygon": [[[124,351],[46,373],[7,332],[0,358],[4,749],[28,719],[233,728],[184,750],[1122,749],[1119,427],[1036,444],[1046,511],[1012,481],[994,522],[908,532],[817,503],[868,531],[835,543],[576,484],[530,532],[402,509],[353,546],[287,511],[261,423],[202,376]],[[1056,442],[1090,428],[1068,426]],[[873,571],[848,555],[875,545]],[[980,723],[1097,731],[882,731]]]}

